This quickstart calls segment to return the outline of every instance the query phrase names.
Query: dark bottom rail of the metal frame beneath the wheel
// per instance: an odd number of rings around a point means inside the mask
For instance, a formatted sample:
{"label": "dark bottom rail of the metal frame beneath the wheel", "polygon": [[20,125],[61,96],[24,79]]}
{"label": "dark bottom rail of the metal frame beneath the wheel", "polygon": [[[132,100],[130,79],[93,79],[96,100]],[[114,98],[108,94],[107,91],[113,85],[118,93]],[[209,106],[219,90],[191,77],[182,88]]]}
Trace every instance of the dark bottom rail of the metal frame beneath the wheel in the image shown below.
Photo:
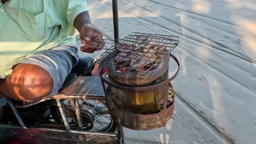
{"label": "dark bottom rail of the metal frame beneath the wheel", "polygon": [[0,143],[118,143],[117,134],[57,128],[22,129],[0,124]]}

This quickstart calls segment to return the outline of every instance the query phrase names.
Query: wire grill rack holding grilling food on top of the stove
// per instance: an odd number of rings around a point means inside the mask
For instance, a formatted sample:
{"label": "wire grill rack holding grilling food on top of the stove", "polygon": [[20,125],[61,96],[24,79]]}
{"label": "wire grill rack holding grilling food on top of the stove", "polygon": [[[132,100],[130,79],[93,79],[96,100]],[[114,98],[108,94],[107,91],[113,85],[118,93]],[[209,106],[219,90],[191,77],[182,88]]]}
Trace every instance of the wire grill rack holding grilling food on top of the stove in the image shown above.
{"label": "wire grill rack holding grilling food on top of the stove", "polygon": [[[163,59],[178,45],[179,37],[148,33],[132,33],[119,43],[104,39],[106,44],[104,52],[97,59],[106,67],[114,68],[120,72],[127,72],[145,76],[145,73],[158,68]],[[141,73],[143,72],[143,73]]]}

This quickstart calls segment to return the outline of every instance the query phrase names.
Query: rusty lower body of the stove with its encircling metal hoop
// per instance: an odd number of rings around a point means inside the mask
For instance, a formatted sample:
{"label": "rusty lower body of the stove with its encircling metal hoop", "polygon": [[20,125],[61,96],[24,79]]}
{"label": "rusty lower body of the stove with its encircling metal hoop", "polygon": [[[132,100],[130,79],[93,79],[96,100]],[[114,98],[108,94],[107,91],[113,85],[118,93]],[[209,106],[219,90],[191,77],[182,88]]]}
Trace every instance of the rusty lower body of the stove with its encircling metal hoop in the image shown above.
{"label": "rusty lower body of the stove with its encircling metal hoop", "polygon": [[[110,77],[100,75],[103,85],[105,85],[104,83],[109,85],[108,89],[104,87],[104,92],[109,104],[109,113],[114,121],[133,130],[150,130],[166,125],[174,111],[174,93],[170,82],[179,71],[178,59],[171,53],[170,57],[178,65],[176,73],[169,79],[164,79],[164,81],[153,85],[142,87],[123,86],[122,83],[115,82]],[[166,76],[162,75],[161,77]],[[117,89],[118,91],[116,91]],[[144,95],[147,97],[143,98]],[[119,103],[120,101],[121,103]]]}

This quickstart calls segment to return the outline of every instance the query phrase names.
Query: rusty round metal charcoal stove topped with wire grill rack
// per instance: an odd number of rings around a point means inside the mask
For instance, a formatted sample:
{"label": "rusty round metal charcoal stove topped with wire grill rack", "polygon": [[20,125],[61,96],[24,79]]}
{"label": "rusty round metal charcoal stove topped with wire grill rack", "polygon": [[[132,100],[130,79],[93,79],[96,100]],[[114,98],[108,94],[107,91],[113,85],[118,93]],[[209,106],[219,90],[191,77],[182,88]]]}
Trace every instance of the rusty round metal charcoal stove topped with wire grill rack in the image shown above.
{"label": "rusty round metal charcoal stove topped with wire grill rack", "polygon": [[[148,41],[141,41],[142,38]],[[111,42],[107,43],[111,44]],[[174,111],[174,93],[171,81],[178,74],[179,62],[171,54],[171,51],[178,43],[178,37],[132,33],[119,40],[118,44],[110,48],[104,47],[105,52],[97,62],[108,72],[109,77],[101,76],[101,80],[109,112],[114,121],[135,130],[149,130],[166,125]],[[124,49],[124,45],[129,46],[125,46]],[[136,51],[141,52],[132,52],[134,49],[130,50],[131,46],[133,48],[138,46]],[[150,58],[152,59],[152,55],[156,55],[156,51],[150,53],[148,50],[154,49],[155,46],[165,46],[166,49],[157,51],[158,58],[154,56],[154,61],[149,61]],[[127,51],[132,53],[132,56],[127,56],[130,53],[124,53]],[[119,60],[117,61],[117,57],[120,57],[122,52],[125,54],[125,56],[121,55],[125,61],[120,63]],[[146,52],[149,52],[147,56]],[[173,76],[169,77],[170,58],[177,62],[178,69]],[[144,61],[141,62],[141,59]],[[135,69],[132,68],[132,64],[141,65]]]}

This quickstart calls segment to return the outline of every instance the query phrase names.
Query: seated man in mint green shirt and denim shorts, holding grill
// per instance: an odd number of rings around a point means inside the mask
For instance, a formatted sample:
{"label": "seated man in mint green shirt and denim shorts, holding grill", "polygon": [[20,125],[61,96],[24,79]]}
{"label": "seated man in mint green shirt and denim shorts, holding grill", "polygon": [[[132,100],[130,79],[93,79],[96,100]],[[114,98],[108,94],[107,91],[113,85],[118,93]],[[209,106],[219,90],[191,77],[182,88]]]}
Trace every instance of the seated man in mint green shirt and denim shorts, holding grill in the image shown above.
{"label": "seated man in mint green shirt and denim shorts, holding grill", "polygon": [[83,52],[103,47],[85,0],[0,0],[0,93],[23,101],[56,94],[78,63],[74,28]]}

